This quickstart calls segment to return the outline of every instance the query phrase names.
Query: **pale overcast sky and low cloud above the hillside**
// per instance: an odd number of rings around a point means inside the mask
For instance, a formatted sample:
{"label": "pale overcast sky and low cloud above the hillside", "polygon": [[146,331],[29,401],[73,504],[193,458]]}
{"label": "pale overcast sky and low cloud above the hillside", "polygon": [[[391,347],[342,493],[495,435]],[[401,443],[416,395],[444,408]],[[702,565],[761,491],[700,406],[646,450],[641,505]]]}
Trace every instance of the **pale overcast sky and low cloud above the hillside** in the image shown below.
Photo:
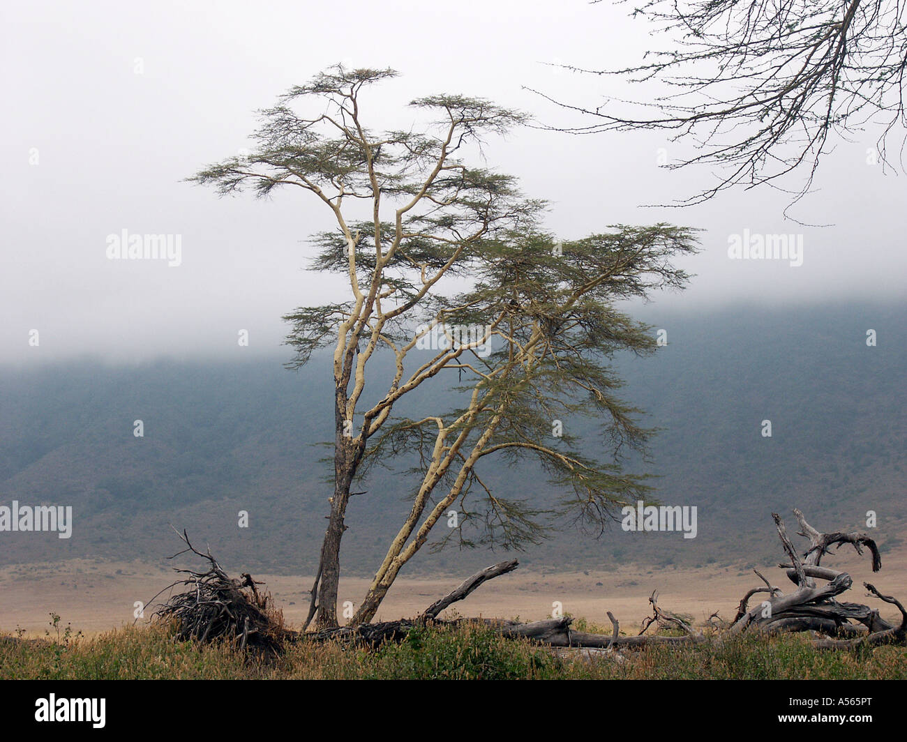
{"label": "pale overcast sky and low cloud above the hillside", "polygon": [[[5,4],[0,362],[230,355],[239,328],[250,351],[273,353],[282,314],[343,296],[341,283],[303,270],[306,238],[331,228],[330,214],[301,191],[218,199],[182,179],[248,146],[256,109],[338,62],[401,73],[367,97],[368,111],[395,128],[413,121],[407,101],[431,93],[576,123],[524,86],[587,105],[613,93],[607,80],[551,63],[638,61],[656,42],[631,9],[583,0]],[[524,130],[490,140],[486,154],[528,195],[551,201],[548,227],[563,239],[613,223],[705,229],[703,251],[684,263],[697,278],[658,299],[666,307],[902,299],[907,181],[867,164],[875,133],[838,142],[817,192],[795,210],[834,223],[824,229],[785,221],[789,197],[770,190],[643,208],[710,177],[660,169],[658,148],[672,159],[684,152],[658,132]],[[180,266],[107,259],[107,236],[122,229],[180,235]],[[803,234],[803,264],[728,259],[728,236],[744,229]]]}

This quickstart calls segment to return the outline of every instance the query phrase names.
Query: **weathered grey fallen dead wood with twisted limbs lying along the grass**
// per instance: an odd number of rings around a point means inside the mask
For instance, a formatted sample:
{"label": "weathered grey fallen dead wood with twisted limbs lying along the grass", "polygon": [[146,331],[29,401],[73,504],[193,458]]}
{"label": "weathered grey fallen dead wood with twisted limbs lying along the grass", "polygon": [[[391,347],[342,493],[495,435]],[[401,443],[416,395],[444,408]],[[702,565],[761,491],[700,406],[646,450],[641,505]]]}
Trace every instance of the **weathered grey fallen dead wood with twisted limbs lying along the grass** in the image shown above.
{"label": "weathered grey fallen dead wood with twisted limbs lying along the grass", "polygon": [[[822,533],[806,522],[803,513],[799,510],[795,509],[794,514],[800,525],[799,534],[809,540],[809,546],[804,552],[798,552],[793,542],[791,542],[781,517],[777,513],[773,513],[772,518],[775,521],[778,537],[788,559],[787,562],[779,564],[778,567],[784,570],[788,579],[794,583],[795,591],[785,595],[778,587],[768,581],[760,571],[755,570],[756,576],[764,584],[746,592],[737,607],[735,619],[729,625],[716,626],[717,611],[713,613],[708,620],[712,628],[710,635],[705,635],[701,630],[694,629],[687,620],[659,606],[658,591],[652,591],[649,597],[652,615],[643,620],[638,636],[620,636],[619,621],[610,611],[607,614],[612,626],[610,635],[572,630],[572,619],[570,617],[528,623],[496,619],[457,619],[453,621],[438,619],[442,611],[449,608],[453,603],[469,596],[484,582],[515,570],[519,566],[519,562],[516,560],[502,561],[476,572],[453,591],[440,600],[436,600],[414,620],[404,619],[379,623],[362,623],[356,626],[334,627],[313,633],[305,633],[305,630],[302,632],[289,631],[281,626],[277,633],[281,642],[297,639],[312,641],[332,640],[343,643],[361,643],[376,647],[387,641],[401,641],[405,639],[410,630],[420,625],[476,623],[489,627],[501,633],[504,637],[530,639],[539,644],[565,651],[577,648],[598,650],[579,653],[579,656],[587,658],[598,656],[599,653],[619,654],[619,649],[639,649],[649,645],[688,646],[707,641],[720,643],[727,637],[749,631],[765,633],[811,631],[819,633],[824,636],[814,639],[813,644],[816,649],[859,649],[861,647],[875,647],[890,643],[907,644],[907,610],[904,610],[897,599],[883,595],[869,583],[863,583],[870,595],[896,606],[901,611],[902,620],[899,625],[894,626],[883,620],[878,610],[861,603],[836,600],[839,595],[851,588],[853,580],[847,572],[830,569],[820,564],[825,554],[832,553],[830,551],[832,547],[849,543],[858,554],[863,554],[863,549],[868,549],[873,557],[873,571],[879,571],[882,567],[882,558],[873,539],[861,532]],[[188,538],[184,536],[185,534],[183,534],[183,540],[188,544]],[[253,628],[253,623],[258,618],[258,614],[253,612],[251,617],[248,614],[249,605],[257,607],[260,603],[262,608],[265,605],[264,597],[258,594],[256,582],[247,574],[242,575],[242,581],[230,580],[227,573],[210,556],[210,552],[196,552],[191,548],[190,544],[188,545],[190,549],[186,551],[195,552],[210,561],[210,572],[207,575],[203,576],[190,572],[196,584],[198,584],[201,577],[204,577],[206,580],[215,581],[219,586],[235,586],[237,590],[250,588],[251,595],[233,596],[230,594],[227,598],[219,599],[218,616],[225,613],[233,615],[234,601],[247,609],[247,612],[240,614],[242,615],[241,622],[236,620],[235,625],[231,624],[232,628],[230,629],[232,634],[239,638],[240,646],[248,647],[252,643],[253,637],[258,639],[258,636],[267,634],[268,627],[266,626]],[[824,584],[817,584],[816,581],[822,581]],[[758,606],[750,608],[749,601],[760,593],[766,595],[766,600]],[[220,605],[220,603],[223,603],[223,605]],[[168,610],[172,612],[175,610],[174,607],[180,606],[181,603],[179,601],[171,600]],[[312,612],[310,607],[309,617]],[[195,611],[191,613],[191,616],[193,617],[189,632],[191,638],[200,639],[200,641],[204,642],[209,640],[209,635],[214,638],[216,635],[224,633],[223,630],[211,631],[213,621],[209,620],[207,613],[202,615],[199,611]],[[646,631],[653,625],[662,629],[680,630],[683,632],[683,636],[646,635]]]}

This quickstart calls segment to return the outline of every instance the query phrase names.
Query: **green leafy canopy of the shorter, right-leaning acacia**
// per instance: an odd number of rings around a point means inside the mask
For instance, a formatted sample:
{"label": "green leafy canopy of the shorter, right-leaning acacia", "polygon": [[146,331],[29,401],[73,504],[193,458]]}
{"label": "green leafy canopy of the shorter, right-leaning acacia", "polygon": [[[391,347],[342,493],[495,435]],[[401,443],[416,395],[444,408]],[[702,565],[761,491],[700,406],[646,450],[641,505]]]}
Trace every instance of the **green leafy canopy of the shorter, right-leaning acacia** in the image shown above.
{"label": "green leafy canopy of the shorter, right-leaning acacia", "polygon": [[[463,260],[471,267],[472,287],[451,298],[435,297],[423,318],[446,327],[487,328],[491,352],[450,359],[466,405],[444,415],[456,421],[445,429],[463,437],[464,451],[480,435],[487,437],[482,464],[466,472],[458,501],[466,528],[440,543],[521,549],[541,540],[545,528],[538,516],[550,514],[569,515],[601,533],[617,505],[646,497],[646,476],[624,472],[621,456],[625,448],[644,451],[652,431],[637,424],[641,411],[616,394],[623,382],[610,360],[619,352],[649,355],[656,346],[651,328],[615,302],[683,287],[687,274],[669,261],[695,252],[695,243],[694,230],[667,224],[617,226],[572,242],[512,232],[484,246],[474,261]],[[553,421],[582,417],[600,425],[607,454],[584,454],[569,432],[552,439]],[[419,464],[410,471],[417,492],[436,444],[436,425],[434,416],[398,417],[366,451],[360,475],[373,464],[389,466],[404,452],[415,453]],[[551,484],[551,499],[541,508],[491,493],[477,471],[513,468],[527,459]],[[453,485],[458,474],[458,467],[447,470],[442,487]]]}

